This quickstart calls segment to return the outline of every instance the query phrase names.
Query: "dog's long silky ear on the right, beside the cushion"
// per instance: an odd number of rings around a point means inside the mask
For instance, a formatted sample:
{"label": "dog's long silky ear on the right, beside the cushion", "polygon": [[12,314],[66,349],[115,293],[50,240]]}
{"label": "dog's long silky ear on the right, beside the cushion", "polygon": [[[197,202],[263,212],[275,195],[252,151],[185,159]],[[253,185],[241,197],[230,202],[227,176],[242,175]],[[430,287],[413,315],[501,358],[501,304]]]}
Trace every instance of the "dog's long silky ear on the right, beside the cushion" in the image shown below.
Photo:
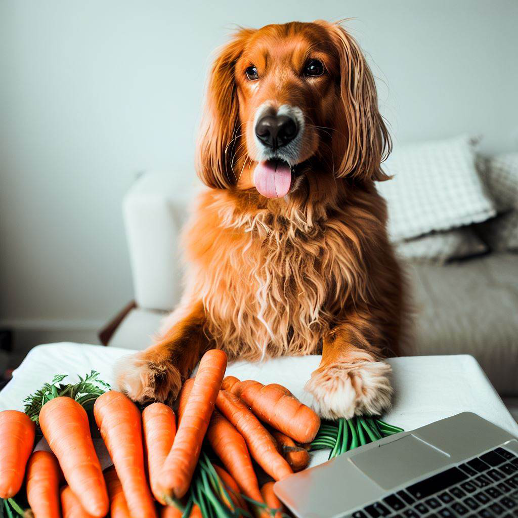
{"label": "dog's long silky ear on the right, beside the cushion", "polygon": [[[391,151],[391,139],[378,110],[376,84],[356,40],[339,24],[325,24],[338,53],[341,98],[335,152],[341,157],[337,176],[388,180],[381,162]],[[346,141],[343,139],[346,136]],[[334,143],[335,144],[335,143]]]}

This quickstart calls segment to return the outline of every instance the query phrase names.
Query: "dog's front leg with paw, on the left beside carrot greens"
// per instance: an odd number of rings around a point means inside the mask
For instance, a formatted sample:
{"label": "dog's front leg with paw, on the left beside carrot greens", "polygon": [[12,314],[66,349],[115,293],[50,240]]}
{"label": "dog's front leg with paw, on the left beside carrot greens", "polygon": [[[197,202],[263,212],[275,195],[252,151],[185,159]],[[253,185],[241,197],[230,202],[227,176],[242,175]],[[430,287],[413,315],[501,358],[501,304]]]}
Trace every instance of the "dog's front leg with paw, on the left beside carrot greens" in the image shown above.
{"label": "dog's front leg with paw, on the left beside carrot greens", "polygon": [[183,380],[212,347],[205,333],[205,318],[201,302],[172,313],[172,324],[155,344],[116,364],[119,388],[138,402],[174,401]]}

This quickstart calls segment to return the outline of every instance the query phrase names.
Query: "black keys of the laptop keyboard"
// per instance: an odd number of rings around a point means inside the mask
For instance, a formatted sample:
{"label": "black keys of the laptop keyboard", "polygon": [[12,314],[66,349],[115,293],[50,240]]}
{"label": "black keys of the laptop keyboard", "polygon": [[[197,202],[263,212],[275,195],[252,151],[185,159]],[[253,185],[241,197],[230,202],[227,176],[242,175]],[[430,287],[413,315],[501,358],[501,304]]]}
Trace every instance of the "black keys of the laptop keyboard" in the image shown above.
{"label": "black keys of the laptop keyboard", "polygon": [[518,517],[518,456],[496,448],[411,484],[352,518]]}

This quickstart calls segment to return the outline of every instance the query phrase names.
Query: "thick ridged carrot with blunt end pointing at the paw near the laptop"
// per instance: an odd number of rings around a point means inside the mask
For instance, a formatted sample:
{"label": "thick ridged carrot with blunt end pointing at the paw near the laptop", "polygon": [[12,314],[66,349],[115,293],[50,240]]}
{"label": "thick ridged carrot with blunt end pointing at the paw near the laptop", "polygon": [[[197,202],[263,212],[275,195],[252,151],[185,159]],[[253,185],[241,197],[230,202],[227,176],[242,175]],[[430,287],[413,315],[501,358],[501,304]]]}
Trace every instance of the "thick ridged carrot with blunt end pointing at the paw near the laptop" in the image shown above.
{"label": "thick ridged carrot with blunt end pointing at the paw near the laptop", "polygon": [[232,387],[261,421],[297,442],[311,442],[320,428],[320,418],[282,385],[241,381]]}

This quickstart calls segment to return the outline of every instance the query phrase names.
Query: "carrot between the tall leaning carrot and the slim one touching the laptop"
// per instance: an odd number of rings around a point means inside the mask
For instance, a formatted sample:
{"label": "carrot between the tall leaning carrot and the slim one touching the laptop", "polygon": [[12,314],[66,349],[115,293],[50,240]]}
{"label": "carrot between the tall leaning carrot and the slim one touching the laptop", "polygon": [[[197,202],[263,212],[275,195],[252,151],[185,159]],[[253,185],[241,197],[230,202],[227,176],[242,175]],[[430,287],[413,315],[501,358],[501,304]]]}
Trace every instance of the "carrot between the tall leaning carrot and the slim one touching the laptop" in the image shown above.
{"label": "carrot between the tall leaning carrot and the slim one touching the laptop", "polygon": [[212,414],[207,439],[241,491],[249,498],[262,502],[247,444],[236,428],[217,410]]}

